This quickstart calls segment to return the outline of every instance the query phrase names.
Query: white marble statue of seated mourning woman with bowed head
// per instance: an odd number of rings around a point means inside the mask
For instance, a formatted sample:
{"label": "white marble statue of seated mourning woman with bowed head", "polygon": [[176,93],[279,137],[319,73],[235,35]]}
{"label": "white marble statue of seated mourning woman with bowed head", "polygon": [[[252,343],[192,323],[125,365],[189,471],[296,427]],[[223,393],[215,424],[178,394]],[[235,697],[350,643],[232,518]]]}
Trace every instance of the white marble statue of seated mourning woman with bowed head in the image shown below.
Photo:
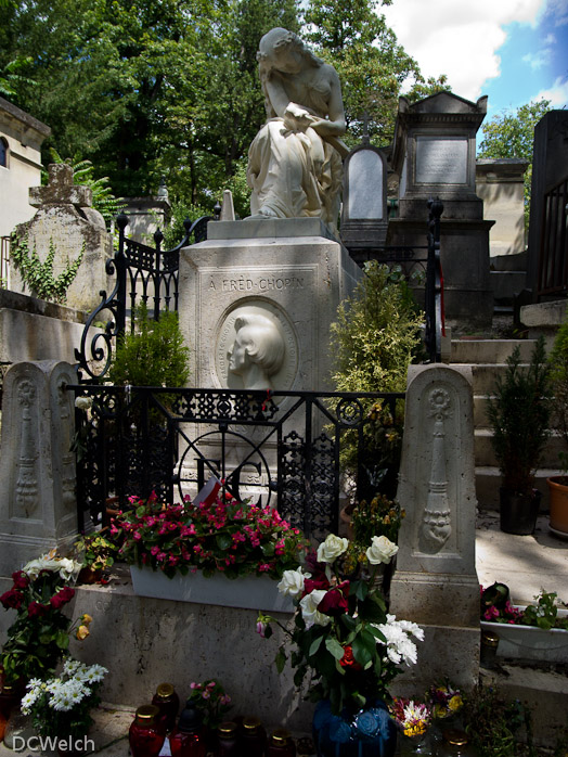
{"label": "white marble statue of seated mourning woman with bowed head", "polygon": [[274,28],[257,53],[268,120],[248,152],[251,218],[337,222],[346,129],[339,77],[292,31]]}

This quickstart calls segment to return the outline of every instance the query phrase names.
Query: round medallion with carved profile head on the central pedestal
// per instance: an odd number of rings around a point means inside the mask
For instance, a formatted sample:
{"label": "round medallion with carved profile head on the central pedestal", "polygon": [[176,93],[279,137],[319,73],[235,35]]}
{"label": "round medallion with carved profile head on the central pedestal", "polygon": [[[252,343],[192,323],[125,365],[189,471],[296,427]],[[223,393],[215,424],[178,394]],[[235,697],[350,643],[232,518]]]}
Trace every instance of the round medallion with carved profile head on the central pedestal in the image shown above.
{"label": "round medallion with carved profile head on the central pedestal", "polygon": [[216,357],[222,386],[288,389],[297,363],[292,325],[269,304],[257,300],[241,305],[223,319]]}

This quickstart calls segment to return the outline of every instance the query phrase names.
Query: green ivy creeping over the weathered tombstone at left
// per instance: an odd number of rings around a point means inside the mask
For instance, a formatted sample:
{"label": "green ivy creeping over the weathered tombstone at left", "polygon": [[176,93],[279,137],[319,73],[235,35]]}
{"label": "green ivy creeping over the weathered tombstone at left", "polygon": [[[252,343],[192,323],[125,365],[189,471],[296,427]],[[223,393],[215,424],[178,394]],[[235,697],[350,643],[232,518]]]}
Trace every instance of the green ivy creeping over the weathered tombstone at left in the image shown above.
{"label": "green ivy creeping over the weathered tombstone at left", "polygon": [[81,265],[85,247],[86,243],[83,242],[79,255],[73,262],[67,258],[67,266],[57,277],[53,274],[53,261],[56,253],[53,239],[50,239],[49,253],[43,262],[41,262],[36,245],[34,245],[34,249],[30,253],[27,241],[20,239],[16,234],[12,234],[10,257],[20,270],[22,280],[29,286],[30,292],[36,297],[63,304],[67,298],[67,290],[75,280]]}

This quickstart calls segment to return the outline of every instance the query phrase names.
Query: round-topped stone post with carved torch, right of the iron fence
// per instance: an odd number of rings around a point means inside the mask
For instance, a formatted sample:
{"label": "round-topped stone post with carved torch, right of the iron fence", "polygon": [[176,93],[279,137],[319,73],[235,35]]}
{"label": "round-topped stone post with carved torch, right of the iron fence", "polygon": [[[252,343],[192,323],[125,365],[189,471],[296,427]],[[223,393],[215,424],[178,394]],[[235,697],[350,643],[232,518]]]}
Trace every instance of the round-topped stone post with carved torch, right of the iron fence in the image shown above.
{"label": "round-topped stone post with carved torch, right of the iron fence", "polygon": [[472,685],[479,659],[479,583],[470,369],[411,367],[397,500],[406,516],[390,612],[426,633],[406,680],[422,685],[428,676],[430,682],[449,676]]}

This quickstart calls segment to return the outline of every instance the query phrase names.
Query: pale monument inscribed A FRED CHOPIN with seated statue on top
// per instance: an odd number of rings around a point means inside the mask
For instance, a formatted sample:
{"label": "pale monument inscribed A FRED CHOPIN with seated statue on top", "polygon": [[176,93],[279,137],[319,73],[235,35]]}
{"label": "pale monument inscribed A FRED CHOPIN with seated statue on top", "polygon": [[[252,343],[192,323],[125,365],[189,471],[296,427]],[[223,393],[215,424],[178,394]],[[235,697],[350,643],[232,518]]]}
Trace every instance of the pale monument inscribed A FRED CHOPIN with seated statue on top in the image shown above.
{"label": "pale monument inscribed A FRED CHOPIN with seated statue on top", "polygon": [[249,150],[251,216],[210,222],[180,255],[192,384],[330,390],[330,324],[361,275],[335,234],[348,152],[339,80],[286,29],[264,35],[258,57],[267,123]]}

